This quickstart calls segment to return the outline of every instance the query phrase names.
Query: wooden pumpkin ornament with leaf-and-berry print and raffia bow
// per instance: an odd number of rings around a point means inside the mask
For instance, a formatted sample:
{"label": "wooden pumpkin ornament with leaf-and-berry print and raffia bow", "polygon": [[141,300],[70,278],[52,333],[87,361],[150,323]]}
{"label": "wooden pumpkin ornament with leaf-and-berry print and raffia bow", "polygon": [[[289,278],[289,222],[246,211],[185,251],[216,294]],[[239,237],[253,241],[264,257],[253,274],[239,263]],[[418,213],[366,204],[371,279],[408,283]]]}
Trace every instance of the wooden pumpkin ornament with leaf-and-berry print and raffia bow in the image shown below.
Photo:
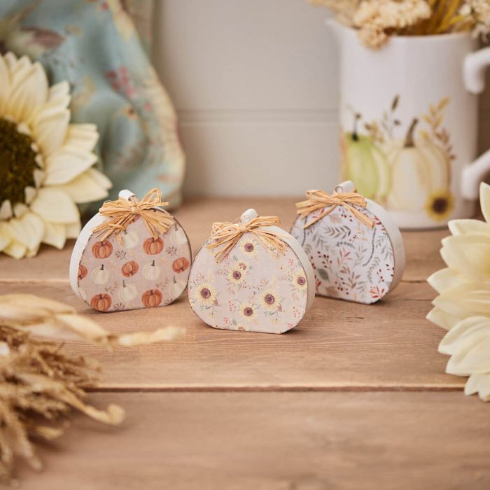
{"label": "wooden pumpkin ornament with leaf-and-berry print and raffia bow", "polygon": [[316,293],[365,304],[393,290],[405,269],[400,230],[379,204],[358,195],[351,181],[332,195],[308,191],[297,204],[291,235],[313,266]]}

